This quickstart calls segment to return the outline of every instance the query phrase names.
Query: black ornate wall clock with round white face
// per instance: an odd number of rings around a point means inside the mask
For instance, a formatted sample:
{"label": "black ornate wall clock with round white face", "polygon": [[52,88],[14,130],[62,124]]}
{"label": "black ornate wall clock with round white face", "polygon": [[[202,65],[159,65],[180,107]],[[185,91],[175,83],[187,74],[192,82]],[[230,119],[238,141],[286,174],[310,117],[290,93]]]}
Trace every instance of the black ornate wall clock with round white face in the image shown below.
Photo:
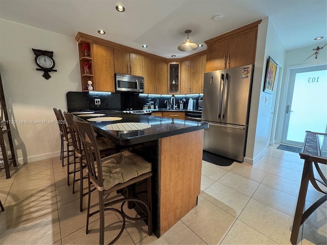
{"label": "black ornate wall clock with round white face", "polygon": [[32,50],[35,55],[35,63],[40,67],[36,68],[36,70],[43,70],[44,73],[42,77],[48,80],[51,78],[49,72],[57,71],[53,69],[55,67],[55,60],[52,58],[53,51],[35,50],[34,48],[32,48]]}

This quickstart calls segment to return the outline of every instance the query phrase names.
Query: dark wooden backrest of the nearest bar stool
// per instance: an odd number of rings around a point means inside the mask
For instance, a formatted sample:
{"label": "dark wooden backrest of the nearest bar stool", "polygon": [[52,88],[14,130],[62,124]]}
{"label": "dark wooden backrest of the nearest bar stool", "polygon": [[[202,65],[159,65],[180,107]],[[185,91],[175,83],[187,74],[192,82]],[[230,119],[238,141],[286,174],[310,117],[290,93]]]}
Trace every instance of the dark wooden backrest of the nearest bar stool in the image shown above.
{"label": "dark wooden backrest of the nearest bar stool", "polygon": [[103,190],[102,165],[97,139],[89,122],[75,120],[77,133],[82,143],[88,175],[99,191]]}

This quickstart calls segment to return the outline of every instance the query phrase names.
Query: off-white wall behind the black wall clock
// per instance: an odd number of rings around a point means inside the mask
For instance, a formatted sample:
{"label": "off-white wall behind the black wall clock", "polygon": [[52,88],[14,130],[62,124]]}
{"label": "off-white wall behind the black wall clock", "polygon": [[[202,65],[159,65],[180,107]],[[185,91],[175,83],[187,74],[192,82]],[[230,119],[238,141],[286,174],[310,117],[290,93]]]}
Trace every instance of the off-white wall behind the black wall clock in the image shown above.
{"label": "off-white wall behind the black wall clock", "polygon": [[[57,124],[31,124],[29,120],[55,120],[54,107],[66,110],[66,92],[81,91],[77,42],[73,37],[0,18],[0,72],[19,163],[59,156]],[[32,48],[54,52],[57,72],[45,80],[35,70]]]}

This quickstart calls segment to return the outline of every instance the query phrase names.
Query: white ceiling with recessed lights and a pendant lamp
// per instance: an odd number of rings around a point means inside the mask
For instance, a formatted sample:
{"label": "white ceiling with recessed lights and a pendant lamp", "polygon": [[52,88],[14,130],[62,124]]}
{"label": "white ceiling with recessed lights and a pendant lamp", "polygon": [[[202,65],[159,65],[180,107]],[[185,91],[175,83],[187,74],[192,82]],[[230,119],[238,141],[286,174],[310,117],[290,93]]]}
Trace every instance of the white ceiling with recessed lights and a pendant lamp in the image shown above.
{"label": "white ceiling with recessed lights and a pendant lamp", "polygon": [[[118,4],[126,11],[116,11]],[[326,12],[326,0],[0,0],[1,18],[72,37],[83,32],[166,58],[200,52],[205,40],[266,17],[285,50],[322,46]],[[223,19],[213,21],[218,14]],[[98,34],[99,29],[106,34]],[[202,48],[177,50],[186,29]],[[324,38],[314,40],[318,36]]]}

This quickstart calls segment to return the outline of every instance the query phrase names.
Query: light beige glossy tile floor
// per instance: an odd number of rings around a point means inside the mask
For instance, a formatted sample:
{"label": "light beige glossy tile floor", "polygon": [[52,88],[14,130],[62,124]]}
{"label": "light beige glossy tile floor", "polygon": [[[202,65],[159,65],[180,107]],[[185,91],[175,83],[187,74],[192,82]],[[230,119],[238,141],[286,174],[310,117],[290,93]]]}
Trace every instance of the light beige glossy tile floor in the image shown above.
{"label": "light beige glossy tile floor", "polygon": [[[253,166],[234,162],[222,167],[203,161],[197,207],[160,238],[149,237],[143,222],[127,221],[117,243],[291,244],[303,160],[276,146],[270,146]],[[6,179],[5,171],[0,171],[0,200],[5,206],[0,213],[0,244],[98,244],[98,216],[91,217],[86,235],[79,185],[72,194],[58,157],[12,168],[11,175]],[[309,186],[307,205],[321,195]],[[96,203],[95,193],[91,205]],[[114,212],[105,220],[105,242],[109,242],[121,221]],[[326,229],[324,203],[301,227],[298,243],[326,244]]]}

